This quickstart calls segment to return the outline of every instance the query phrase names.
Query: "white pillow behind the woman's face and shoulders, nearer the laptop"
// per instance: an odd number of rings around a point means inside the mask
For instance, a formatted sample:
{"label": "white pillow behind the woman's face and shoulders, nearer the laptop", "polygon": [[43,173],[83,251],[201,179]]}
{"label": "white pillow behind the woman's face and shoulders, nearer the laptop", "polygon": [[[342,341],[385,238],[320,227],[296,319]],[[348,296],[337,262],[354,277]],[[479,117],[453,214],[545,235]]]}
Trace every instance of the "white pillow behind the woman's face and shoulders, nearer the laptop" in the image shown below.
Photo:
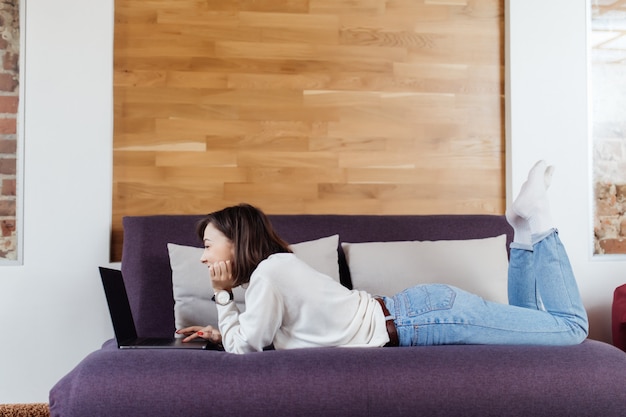
{"label": "white pillow behind the woman's face and shoulders, nearer the laptop", "polygon": [[[333,235],[290,246],[294,254],[318,271],[339,282],[337,246],[339,235]],[[174,321],[177,329],[194,325],[217,326],[217,308],[211,300],[213,288],[207,267],[200,262],[202,248],[168,243],[172,267]],[[233,289],[240,311],[245,310],[245,289]]]}

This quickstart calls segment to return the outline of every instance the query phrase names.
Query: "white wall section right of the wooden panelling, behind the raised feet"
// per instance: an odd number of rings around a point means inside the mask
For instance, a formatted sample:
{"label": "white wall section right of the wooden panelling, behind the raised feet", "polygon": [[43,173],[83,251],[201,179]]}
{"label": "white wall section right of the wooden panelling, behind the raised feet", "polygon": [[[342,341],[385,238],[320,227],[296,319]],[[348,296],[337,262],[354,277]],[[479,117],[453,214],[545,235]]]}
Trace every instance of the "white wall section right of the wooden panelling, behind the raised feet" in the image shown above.
{"label": "white wall section right of the wooden panelling, behind the raised feet", "polygon": [[538,159],[556,166],[550,198],[590,316],[591,337],[611,340],[615,287],[626,261],[593,257],[587,0],[508,0],[507,194]]}

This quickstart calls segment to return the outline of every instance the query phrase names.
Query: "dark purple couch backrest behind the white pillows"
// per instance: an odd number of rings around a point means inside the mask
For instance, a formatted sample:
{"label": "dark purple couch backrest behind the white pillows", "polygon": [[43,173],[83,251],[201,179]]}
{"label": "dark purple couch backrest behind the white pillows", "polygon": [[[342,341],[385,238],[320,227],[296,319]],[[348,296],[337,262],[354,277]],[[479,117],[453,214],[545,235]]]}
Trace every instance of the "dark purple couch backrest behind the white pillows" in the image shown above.
{"label": "dark purple couch backrest behind the white pillows", "polygon": [[[128,216],[123,219],[122,271],[137,332],[165,337],[174,332],[174,299],[168,243],[200,247],[200,215]],[[289,243],[339,234],[340,242],[478,239],[512,229],[496,215],[271,215]],[[508,246],[507,246],[508,247]],[[345,256],[339,250],[341,281],[350,287]]]}

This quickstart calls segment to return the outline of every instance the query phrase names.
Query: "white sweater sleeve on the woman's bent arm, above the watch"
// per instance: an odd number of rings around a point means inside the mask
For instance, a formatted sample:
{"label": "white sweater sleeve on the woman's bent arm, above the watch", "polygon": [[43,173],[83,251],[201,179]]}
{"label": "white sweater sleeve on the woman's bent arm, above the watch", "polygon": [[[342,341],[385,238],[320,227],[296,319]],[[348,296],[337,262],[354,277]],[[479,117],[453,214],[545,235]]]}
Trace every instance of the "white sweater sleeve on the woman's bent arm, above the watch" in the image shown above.
{"label": "white sweater sleeve on the woman's bent arm, above the watch", "polygon": [[269,280],[256,280],[246,290],[246,311],[235,303],[217,306],[222,344],[227,352],[258,352],[269,346],[282,323],[282,298]]}

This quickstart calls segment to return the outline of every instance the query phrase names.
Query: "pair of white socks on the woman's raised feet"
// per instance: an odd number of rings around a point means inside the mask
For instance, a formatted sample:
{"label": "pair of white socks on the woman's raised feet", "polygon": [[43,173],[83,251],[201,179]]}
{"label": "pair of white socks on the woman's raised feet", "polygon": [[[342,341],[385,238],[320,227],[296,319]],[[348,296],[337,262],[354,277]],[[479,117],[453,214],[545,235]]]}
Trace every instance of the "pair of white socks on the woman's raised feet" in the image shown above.
{"label": "pair of white socks on the woman's raised feet", "polygon": [[554,227],[546,192],[552,181],[553,172],[554,167],[547,166],[545,161],[537,162],[513,201],[511,210],[528,221],[531,235],[544,233]]}

